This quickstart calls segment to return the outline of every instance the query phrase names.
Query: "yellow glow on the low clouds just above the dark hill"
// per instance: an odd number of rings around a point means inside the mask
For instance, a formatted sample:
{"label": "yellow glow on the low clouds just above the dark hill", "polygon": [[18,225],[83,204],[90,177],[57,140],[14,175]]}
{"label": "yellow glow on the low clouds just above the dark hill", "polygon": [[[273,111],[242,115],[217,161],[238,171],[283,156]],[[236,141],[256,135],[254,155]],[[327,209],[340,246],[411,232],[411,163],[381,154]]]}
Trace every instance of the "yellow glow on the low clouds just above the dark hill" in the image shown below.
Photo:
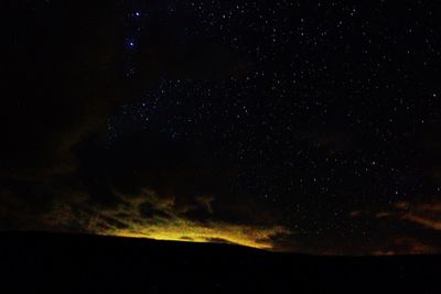
{"label": "yellow glow on the low clouds just above the dark hill", "polygon": [[[236,225],[223,221],[196,221],[181,215],[183,208],[176,208],[173,198],[159,198],[143,194],[140,197],[119,195],[123,200],[120,206],[110,210],[88,207],[82,215],[74,216],[67,204],[58,204],[46,217],[50,224],[68,225],[74,219],[80,220],[84,228],[103,236],[148,238],[155,240],[190,242],[229,242],[240,246],[273,249],[271,237],[279,233],[292,233],[281,226]],[[147,218],[139,211],[139,205],[148,202],[154,209],[165,216]],[[200,200],[211,213],[208,198]],[[185,209],[191,209],[185,208]]]}

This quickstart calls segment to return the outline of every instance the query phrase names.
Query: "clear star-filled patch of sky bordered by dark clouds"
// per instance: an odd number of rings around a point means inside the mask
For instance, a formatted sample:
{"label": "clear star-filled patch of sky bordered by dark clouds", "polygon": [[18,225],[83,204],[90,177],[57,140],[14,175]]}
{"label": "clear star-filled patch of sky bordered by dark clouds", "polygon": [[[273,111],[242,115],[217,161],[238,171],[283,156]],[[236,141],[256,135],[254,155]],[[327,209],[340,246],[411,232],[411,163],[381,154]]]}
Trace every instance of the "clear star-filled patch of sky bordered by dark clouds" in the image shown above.
{"label": "clear star-filled patch of sky bordered by dark clouds", "polygon": [[[437,33],[424,29],[431,10],[413,3],[395,11],[406,19],[399,28],[387,18],[397,8],[384,2],[202,1],[163,9],[163,23],[181,11],[194,18],[180,26],[179,42],[214,40],[245,58],[246,69],[232,68],[214,83],[164,77],[142,102],[122,107],[109,135],[152,128],[202,148],[218,142],[209,152],[240,171],[233,190],[279,207],[305,233],[351,235],[358,229],[347,224],[354,207],[437,193],[438,185],[419,178],[416,144],[440,115],[439,87],[426,78],[440,54]],[[421,10],[427,19],[415,19]]]}

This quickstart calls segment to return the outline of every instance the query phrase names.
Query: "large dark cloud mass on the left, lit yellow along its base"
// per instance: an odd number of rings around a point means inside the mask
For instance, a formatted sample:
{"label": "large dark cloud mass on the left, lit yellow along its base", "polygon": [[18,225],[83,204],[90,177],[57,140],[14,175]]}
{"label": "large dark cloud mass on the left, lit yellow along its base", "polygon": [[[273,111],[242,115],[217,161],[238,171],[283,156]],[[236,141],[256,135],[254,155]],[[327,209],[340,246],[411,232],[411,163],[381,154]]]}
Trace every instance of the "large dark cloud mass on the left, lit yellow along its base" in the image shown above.
{"label": "large dark cloud mass on the left, lit yellow along its base", "polygon": [[[125,28],[115,21],[125,13],[112,4],[56,10],[35,8],[24,25],[34,37],[6,44],[13,58],[4,66],[13,70],[0,116],[0,228],[271,248],[270,237],[286,230],[275,225],[278,215],[229,189],[236,171],[209,155],[216,146],[202,152],[152,130],[106,141],[107,118],[155,89],[160,77],[222,80],[243,75],[246,58],[207,40],[180,42],[195,15],[168,22],[152,14],[128,85]],[[68,28],[51,25],[53,18],[67,18]]]}

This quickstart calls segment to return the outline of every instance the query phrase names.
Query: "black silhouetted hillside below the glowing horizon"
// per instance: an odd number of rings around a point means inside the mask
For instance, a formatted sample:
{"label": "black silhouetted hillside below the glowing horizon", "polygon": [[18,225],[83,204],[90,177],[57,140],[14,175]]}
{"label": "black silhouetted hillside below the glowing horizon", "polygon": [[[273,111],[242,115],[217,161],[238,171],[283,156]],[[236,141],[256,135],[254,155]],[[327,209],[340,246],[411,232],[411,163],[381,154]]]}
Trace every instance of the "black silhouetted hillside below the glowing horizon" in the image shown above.
{"label": "black silhouetted hillside below the glowing horizon", "polygon": [[441,293],[439,255],[311,257],[40,232],[0,241],[0,293]]}

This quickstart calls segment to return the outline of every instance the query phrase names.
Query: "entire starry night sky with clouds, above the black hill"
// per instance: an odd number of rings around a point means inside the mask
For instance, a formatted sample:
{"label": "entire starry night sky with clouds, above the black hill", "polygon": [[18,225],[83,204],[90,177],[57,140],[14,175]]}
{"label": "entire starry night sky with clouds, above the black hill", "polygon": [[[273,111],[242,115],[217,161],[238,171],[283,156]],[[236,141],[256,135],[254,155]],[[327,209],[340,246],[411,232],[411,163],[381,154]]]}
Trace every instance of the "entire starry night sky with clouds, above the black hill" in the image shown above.
{"label": "entire starry night sky with clouds, above the black hill", "polygon": [[6,1],[0,229],[440,253],[441,4],[362,2]]}

